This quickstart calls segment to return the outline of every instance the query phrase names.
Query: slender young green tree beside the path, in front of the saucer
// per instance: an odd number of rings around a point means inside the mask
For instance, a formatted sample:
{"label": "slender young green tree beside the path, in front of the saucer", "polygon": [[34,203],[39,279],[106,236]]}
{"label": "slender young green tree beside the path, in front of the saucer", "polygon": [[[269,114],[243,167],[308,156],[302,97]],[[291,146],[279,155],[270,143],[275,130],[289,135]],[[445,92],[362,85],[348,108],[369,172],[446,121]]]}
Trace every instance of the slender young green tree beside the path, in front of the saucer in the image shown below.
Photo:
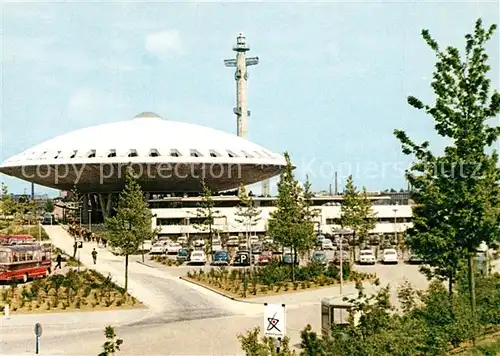
{"label": "slender young green tree beside the path, in front of the saucer", "polygon": [[125,290],[128,287],[128,256],[136,253],[144,240],[156,235],[151,226],[153,215],[141,187],[129,167],[125,188],[118,198],[116,216],[105,219],[105,235],[111,247],[118,248],[125,256]]}

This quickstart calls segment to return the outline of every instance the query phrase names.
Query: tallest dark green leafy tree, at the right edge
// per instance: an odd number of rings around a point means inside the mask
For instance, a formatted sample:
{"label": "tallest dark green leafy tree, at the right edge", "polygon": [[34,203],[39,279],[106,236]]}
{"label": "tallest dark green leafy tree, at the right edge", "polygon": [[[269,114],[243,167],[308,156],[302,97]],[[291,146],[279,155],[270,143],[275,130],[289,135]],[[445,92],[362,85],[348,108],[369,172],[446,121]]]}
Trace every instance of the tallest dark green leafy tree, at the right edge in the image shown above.
{"label": "tallest dark green leafy tree, at the right edge", "polygon": [[408,103],[434,119],[436,132],[450,142],[444,154],[432,153],[428,141],[419,145],[404,131],[394,132],[403,153],[416,158],[407,172],[417,204],[408,244],[448,273],[450,284],[466,258],[473,315],[475,250],[483,241],[497,243],[500,236],[500,170],[497,152],[491,150],[500,127],[490,126],[500,112],[500,94],[490,89],[485,50],[495,29],[477,20],[474,32],[465,36],[462,54],[455,47],[440,48],[428,30],[422,31],[437,58],[431,82],[436,100],[429,105],[410,96]]}

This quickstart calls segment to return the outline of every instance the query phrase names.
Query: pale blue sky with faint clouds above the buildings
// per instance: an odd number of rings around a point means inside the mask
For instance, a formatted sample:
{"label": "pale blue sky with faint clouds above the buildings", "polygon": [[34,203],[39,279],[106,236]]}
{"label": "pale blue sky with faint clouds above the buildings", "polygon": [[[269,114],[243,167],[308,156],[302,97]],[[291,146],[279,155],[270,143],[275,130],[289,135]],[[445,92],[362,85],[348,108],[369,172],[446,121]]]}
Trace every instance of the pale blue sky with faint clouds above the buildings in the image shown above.
{"label": "pale blue sky with faint clouds above the buildings", "polygon": [[479,17],[498,24],[498,1],[4,3],[1,160],[142,111],[235,132],[234,70],[223,59],[242,31],[260,57],[249,73],[252,141],[289,151],[315,190],[335,170],[369,190],[405,187],[409,160],[393,129],[434,138],[432,121],[406,103],[432,98],[434,55],[420,32],[462,48]]}

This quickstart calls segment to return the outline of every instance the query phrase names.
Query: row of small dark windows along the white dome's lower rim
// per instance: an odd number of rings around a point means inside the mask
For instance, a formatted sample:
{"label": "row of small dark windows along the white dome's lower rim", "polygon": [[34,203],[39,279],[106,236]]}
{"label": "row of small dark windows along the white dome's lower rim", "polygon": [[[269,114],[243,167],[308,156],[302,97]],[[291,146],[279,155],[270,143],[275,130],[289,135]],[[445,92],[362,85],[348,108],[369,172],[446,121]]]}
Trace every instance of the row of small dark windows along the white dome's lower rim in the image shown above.
{"label": "row of small dark windows along the white dome's lower rim", "polygon": [[[274,158],[273,155],[271,155],[270,153],[268,153],[266,151],[262,151],[262,152],[259,152],[259,151],[252,151],[252,152],[241,151],[241,154],[236,154],[234,151],[231,151],[231,150],[225,150],[225,151],[226,151],[225,153],[227,153],[227,157],[230,157],[230,158],[238,158],[238,157]],[[47,153],[48,153],[48,151],[43,152],[39,156],[39,158],[44,157],[45,155],[47,155]],[[62,151],[58,151],[57,154],[55,154],[54,159],[59,158],[61,156],[61,153],[62,153]],[[77,154],[78,154],[78,150],[74,150],[69,158],[75,158]],[[219,151],[216,151],[216,150],[209,150],[208,155],[209,155],[209,157],[214,157],[214,158],[226,157],[225,155],[221,154]],[[135,150],[135,149],[130,149],[127,153],[127,157],[138,157],[138,156],[139,156],[139,154],[137,153],[137,150]],[[148,156],[149,157],[160,157],[161,154],[156,148],[152,148],[149,150]],[[167,156],[182,157],[183,155],[179,152],[179,150],[172,148],[169,151]],[[191,149],[189,151],[189,156],[190,157],[204,157],[204,155],[196,149]],[[90,151],[86,152],[84,157],[85,158],[95,158],[96,157],[96,150],[90,150]],[[116,157],[116,150],[115,149],[109,150],[108,153],[105,155],[105,157],[109,157],[109,158]]]}

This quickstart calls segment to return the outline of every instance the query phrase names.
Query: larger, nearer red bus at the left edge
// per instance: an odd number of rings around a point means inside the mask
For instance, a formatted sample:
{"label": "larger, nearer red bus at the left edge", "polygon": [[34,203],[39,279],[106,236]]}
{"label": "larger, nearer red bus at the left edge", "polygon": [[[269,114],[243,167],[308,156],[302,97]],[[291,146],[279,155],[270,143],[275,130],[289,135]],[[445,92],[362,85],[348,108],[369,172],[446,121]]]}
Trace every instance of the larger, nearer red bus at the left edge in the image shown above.
{"label": "larger, nearer red bus at the left edge", "polygon": [[38,244],[0,245],[0,281],[46,277],[52,270],[50,249]]}

